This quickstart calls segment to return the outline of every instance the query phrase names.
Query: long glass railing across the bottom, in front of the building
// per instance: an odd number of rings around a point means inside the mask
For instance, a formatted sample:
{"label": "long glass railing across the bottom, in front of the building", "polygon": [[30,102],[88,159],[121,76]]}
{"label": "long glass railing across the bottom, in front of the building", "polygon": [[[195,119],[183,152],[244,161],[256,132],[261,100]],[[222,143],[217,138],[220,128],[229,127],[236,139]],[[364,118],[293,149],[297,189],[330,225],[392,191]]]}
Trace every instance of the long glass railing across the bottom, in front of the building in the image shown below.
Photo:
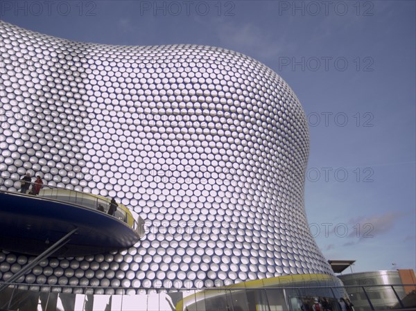
{"label": "long glass railing across the bottom, in front of the building", "polygon": [[[7,282],[0,282],[7,283]],[[351,286],[272,287],[103,287],[9,283],[0,292],[0,310],[180,310],[180,311],[340,311],[340,298],[349,299],[355,311],[415,310],[416,291],[404,292],[403,284]],[[406,284],[416,288],[416,284]],[[392,297],[387,291],[395,293]],[[354,294],[351,294],[351,293]],[[368,293],[378,293],[369,295]],[[365,299],[356,296],[365,294]],[[381,298],[377,298],[381,297]],[[31,308],[33,307],[33,308]],[[3,308],[3,309],[1,309]],[[25,309],[26,308],[26,309]],[[60,309],[61,310],[61,309]]]}

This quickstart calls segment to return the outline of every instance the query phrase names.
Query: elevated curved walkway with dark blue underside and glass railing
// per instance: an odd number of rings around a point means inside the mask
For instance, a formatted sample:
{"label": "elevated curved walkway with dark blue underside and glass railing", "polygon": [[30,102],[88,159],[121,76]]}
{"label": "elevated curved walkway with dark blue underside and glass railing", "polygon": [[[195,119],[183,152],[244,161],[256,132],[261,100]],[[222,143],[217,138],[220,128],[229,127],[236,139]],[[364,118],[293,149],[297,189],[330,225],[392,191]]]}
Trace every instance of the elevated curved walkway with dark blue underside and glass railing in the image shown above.
{"label": "elevated curved walkway with dark blue underside and glass railing", "polygon": [[[3,183],[1,189],[5,189]],[[86,256],[135,245],[144,220],[110,199],[44,186],[39,195],[0,190],[0,249],[54,257]]]}

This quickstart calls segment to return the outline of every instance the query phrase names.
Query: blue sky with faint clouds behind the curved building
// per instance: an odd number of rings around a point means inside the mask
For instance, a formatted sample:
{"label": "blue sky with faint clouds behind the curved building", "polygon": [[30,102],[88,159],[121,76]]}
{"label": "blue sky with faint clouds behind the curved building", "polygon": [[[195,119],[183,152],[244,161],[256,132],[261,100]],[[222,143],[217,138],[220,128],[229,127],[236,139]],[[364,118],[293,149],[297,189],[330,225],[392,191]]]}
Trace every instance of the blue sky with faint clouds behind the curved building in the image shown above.
{"label": "blue sky with faint clouds behind the curved building", "polygon": [[327,259],[416,269],[415,1],[2,1],[81,42],[204,44],[279,73],[308,116],[305,208]]}

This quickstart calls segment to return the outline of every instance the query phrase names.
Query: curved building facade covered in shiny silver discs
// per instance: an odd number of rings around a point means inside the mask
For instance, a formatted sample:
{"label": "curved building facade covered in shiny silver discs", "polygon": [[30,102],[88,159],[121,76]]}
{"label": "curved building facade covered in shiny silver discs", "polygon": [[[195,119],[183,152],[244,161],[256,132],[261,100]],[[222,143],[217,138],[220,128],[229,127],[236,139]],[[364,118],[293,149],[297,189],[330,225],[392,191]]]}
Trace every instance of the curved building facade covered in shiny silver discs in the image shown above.
{"label": "curved building facade covered in shiny silver discs", "polygon": [[[0,37],[1,189],[29,172],[146,220],[129,249],[49,258],[21,281],[212,287],[332,274],[304,211],[306,116],[277,73],[210,46],[71,42],[4,22]],[[0,251],[0,279],[28,259]]]}

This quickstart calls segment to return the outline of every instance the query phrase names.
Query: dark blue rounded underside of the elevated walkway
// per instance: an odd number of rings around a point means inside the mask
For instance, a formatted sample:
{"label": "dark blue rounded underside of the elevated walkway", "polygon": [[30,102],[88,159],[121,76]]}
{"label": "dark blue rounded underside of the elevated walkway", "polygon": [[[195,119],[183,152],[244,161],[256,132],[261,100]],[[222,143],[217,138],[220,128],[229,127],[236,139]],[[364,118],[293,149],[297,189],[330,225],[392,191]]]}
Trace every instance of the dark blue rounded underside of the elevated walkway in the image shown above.
{"label": "dark blue rounded underside of the elevated walkway", "polygon": [[38,255],[73,229],[52,256],[101,254],[134,245],[139,236],[100,211],[19,193],[0,192],[0,249]]}

